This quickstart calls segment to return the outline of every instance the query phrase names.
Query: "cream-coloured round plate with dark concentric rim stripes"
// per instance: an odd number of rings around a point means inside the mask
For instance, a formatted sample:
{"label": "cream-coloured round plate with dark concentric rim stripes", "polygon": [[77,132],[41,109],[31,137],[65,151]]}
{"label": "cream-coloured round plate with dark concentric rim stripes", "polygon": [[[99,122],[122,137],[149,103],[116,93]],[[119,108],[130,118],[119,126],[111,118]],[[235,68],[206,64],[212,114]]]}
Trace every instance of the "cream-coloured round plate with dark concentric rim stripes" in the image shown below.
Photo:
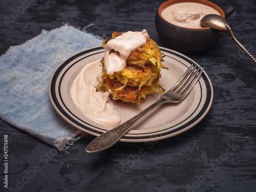
{"label": "cream-coloured round plate with dark concentric rim stripes", "polygon": [[[160,83],[165,90],[169,90],[183,75],[194,60],[187,56],[163,47],[164,65],[169,69],[162,69]],[[67,122],[88,134],[99,136],[111,127],[101,125],[85,117],[76,107],[70,89],[75,77],[87,63],[100,60],[104,49],[94,47],[79,52],[62,62],[54,71],[49,83],[49,95],[57,113]],[[196,65],[198,65],[196,63]],[[189,95],[179,103],[166,103],[136,124],[134,129],[127,132],[120,141],[147,142],[161,140],[183,133],[199,123],[208,113],[213,100],[212,84],[206,72],[197,82]],[[157,101],[159,94],[148,95],[140,104],[127,104],[112,101],[114,110],[120,115],[121,123],[130,119]]]}

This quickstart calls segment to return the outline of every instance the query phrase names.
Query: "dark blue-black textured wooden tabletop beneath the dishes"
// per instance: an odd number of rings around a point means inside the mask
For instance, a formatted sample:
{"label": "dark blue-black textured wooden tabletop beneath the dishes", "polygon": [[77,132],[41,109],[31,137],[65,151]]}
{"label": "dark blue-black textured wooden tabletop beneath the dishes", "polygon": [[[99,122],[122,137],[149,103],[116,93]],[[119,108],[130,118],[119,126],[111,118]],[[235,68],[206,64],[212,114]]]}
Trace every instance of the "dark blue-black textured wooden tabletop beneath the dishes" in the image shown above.
{"label": "dark blue-black textured wooden tabletop beneath the dishes", "polygon": [[[63,23],[103,38],[112,31],[146,29],[165,47],[154,23],[163,2],[2,0],[0,54]],[[233,33],[256,55],[255,1],[212,2],[234,7],[228,17]],[[204,65],[214,88],[212,107],[195,127],[156,142],[119,142],[96,154],[84,151],[95,138],[88,135],[68,154],[0,120],[0,191],[256,191],[255,63],[227,33],[214,49],[186,55]],[[8,189],[4,135],[9,146]]]}

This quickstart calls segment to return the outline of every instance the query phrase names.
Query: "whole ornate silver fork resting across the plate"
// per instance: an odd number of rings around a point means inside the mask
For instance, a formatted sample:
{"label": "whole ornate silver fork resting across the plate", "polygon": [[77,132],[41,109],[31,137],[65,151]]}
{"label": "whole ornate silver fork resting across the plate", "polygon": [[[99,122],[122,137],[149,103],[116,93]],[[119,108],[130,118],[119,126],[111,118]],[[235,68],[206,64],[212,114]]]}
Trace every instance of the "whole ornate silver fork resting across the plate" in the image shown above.
{"label": "whole ornate silver fork resting across the plate", "polygon": [[193,89],[199,77],[201,76],[204,68],[201,66],[197,67],[193,63],[188,70],[183,74],[183,76],[175,83],[175,85],[166,93],[161,95],[161,98],[154,102],[152,105],[148,106],[142,112],[127,120],[126,122],[114,127],[113,129],[103,133],[102,135],[96,137],[89,145],[86,147],[86,152],[94,153],[106,150],[113,146],[121,137],[127,133],[132,127],[141,120],[146,114],[150,113],[153,109],[163,103],[177,103],[183,100],[188,93]]}

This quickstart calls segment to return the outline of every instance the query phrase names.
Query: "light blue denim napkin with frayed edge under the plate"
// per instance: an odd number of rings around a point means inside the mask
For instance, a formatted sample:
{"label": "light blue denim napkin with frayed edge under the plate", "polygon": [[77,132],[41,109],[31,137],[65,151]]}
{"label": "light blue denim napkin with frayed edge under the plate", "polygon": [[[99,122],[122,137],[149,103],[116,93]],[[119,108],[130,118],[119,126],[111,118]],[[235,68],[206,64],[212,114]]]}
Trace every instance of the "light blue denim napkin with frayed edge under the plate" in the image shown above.
{"label": "light blue denim napkin with frayed edge under the plate", "polygon": [[48,84],[54,70],[73,54],[103,39],[65,25],[42,33],[0,57],[0,118],[65,151],[84,133],[54,110]]}

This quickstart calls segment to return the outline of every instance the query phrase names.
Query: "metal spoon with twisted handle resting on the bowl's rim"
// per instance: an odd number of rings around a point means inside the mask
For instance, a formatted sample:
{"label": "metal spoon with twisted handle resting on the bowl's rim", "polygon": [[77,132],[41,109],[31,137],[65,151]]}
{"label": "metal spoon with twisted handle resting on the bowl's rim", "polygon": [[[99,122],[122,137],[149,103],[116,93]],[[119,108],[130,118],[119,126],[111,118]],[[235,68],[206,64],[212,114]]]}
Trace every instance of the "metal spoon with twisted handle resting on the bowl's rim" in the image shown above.
{"label": "metal spoon with twisted handle resting on the bowl's rim", "polygon": [[224,19],[222,16],[216,15],[216,14],[205,15],[201,19],[201,24],[205,27],[209,27],[212,29],[228,30],[231,37],[234,39],[234,41],[236,41],[239,47],[252,59],[254,63],[256,63],[256,58],[254,58],[252,54],[250,54],[250,52],[247,51],[247,49],[245,49],[244,46],[242,46],[242,44],[240,44],[240,42],[236,39],[236,37],[234,37],[233,32],[230,28],[230,25],[227,23],[226,19]]}

